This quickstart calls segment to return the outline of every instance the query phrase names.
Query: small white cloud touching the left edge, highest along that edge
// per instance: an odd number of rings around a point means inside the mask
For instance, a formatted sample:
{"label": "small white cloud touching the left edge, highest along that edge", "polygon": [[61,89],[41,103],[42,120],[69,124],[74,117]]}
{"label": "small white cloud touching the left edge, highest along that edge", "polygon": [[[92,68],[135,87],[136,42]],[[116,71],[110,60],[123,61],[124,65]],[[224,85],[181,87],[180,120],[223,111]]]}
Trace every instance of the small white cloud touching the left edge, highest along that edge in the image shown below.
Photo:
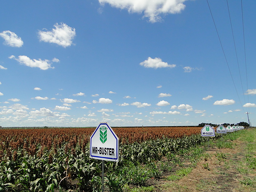
{"label": "small white cloud touching the left edge, highest along that edge", "polygon": [[4,38],[4,44],[10,47],[22,47],[23,41],[14,32],[3,31],[0,33],[0,37]]}

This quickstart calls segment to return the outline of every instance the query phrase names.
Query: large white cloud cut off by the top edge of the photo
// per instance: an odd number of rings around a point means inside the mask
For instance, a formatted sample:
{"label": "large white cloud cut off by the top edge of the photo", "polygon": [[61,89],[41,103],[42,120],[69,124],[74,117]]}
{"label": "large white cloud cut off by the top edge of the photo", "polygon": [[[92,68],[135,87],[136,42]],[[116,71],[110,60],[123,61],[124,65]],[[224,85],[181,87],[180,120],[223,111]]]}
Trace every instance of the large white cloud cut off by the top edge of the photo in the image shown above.
{"label": "large white cloud cut off by the top edge of the photo", "polygon": [[99,3],[109,3],[119,9],[127,9],[131,13],[143,13],[149,22],[162,20],[161,15],[180,13],[185,9],[186,0],[99,0]]}

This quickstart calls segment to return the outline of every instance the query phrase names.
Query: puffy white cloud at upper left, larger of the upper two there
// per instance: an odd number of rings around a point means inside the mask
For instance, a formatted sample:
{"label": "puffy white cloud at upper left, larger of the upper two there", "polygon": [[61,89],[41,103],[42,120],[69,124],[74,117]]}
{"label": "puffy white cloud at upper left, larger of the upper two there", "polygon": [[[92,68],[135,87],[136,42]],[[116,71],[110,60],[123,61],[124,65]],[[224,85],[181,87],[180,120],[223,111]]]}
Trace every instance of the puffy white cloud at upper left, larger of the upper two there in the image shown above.
{"label": "puffy white cloud at upper left, larger of the upper two there", "polygon": [[76,29],[67,26],[65,23],[60,25],[56,23],[54,27],[55,29],[52,29],[52,31],[39,30],[40,41],[58,44],[64,48],[71,46],[73,38],[76,36]]}

